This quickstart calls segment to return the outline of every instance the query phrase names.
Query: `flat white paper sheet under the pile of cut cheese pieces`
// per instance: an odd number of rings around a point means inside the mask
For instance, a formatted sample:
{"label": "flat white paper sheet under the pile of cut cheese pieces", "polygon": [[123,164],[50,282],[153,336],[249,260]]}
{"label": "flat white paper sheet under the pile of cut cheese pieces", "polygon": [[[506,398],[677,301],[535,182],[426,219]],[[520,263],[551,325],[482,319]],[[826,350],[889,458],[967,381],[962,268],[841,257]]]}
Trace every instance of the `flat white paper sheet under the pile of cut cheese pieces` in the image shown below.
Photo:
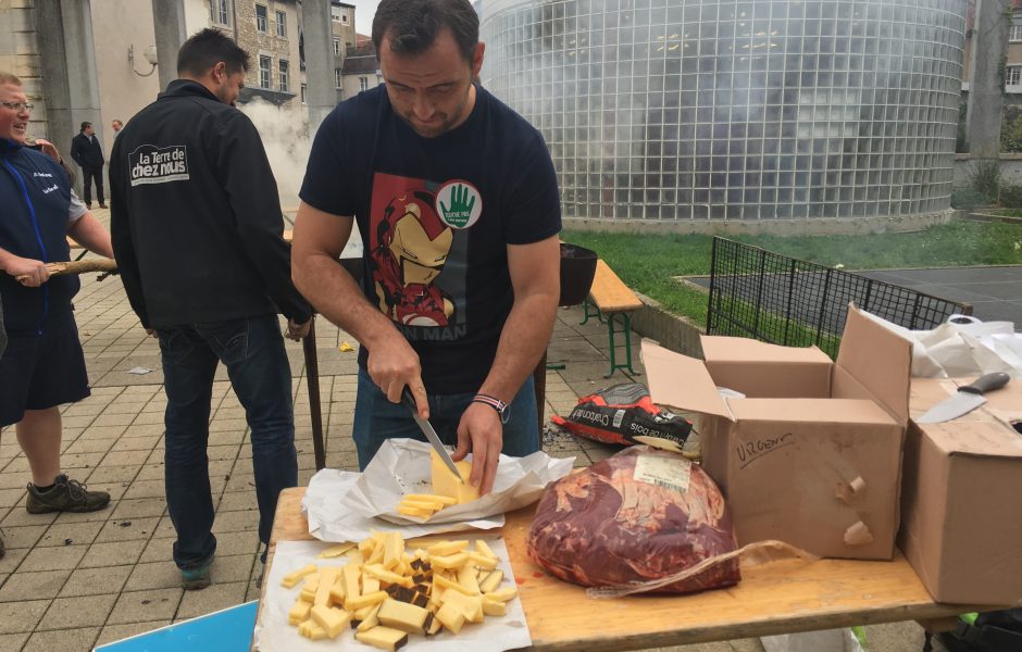
{"label": "flat white paper sheet under the pile of cut cheese pieces", "polygon": [[[508,548],[503,539],[496,535],[482,535],[474,539],[485,540],[494,554],[500,560],[497,567],[503,570],[504,580],[500,586],[515,587],[514,574],[508,561]],[[354,639],[354,630],[346,628],[333,641],[312,641],[298,634],[298,627],[287,624],[287,614],[301,593],[299,582],[295,588],[286,589],[281,586],[284,576],[308,564],[319,567],[344,566],[349,562],[347,556],[331,560],[320,560],[316,555],[329,546],[320,541],[278,541],[273,553],[273,560],[266,568],[266,595],[263,598],[262,611],[256,623],[253,635],[253,650],[258,652],[322,652],[323,650],[376,650],[360,643]],[[526,648],[532,644],[528,635],[528,625],[525,623],[525,612],[522,601],[515,597],[508,602],[508,613],[503,617],[486,616],[483,623],[465,623],[461,631],[454,636],[446,629],[431,637],[425,635],[408,635],[408,644],[401,648],[402,652],[502,652],[516,648]]]}

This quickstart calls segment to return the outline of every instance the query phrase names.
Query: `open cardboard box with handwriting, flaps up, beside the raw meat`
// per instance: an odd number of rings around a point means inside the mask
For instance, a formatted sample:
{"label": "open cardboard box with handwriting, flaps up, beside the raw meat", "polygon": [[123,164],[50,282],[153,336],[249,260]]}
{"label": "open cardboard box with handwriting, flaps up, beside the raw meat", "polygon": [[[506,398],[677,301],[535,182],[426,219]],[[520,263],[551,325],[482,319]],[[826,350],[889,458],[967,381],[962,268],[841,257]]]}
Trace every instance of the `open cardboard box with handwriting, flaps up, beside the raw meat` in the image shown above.
{"label": "open cardboard box with handwriting, flaps up, beside the raw meat", "polygon": [[702,349],[705,362],[644,341],[643,361],[655,403],[703,415],[702,466],[738,543],[892,559],[911,344],[852,306],[836,363],[745,338],[703,336]]}

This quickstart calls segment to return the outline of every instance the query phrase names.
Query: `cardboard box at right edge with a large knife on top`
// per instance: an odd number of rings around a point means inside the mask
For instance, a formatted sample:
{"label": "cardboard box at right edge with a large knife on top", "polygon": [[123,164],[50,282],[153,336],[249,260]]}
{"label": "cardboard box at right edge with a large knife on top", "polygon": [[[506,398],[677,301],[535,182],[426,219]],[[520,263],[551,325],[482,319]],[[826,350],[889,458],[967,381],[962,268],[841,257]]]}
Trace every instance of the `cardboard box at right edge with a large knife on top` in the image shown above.
{"label": "cardboard box at right edge with a large knife on top", "polygon": [[[913,378],[920,415],[975,378]],[[938,602],[1022,603],[1022,380],[943,424],[909,427],[898,546]]]}

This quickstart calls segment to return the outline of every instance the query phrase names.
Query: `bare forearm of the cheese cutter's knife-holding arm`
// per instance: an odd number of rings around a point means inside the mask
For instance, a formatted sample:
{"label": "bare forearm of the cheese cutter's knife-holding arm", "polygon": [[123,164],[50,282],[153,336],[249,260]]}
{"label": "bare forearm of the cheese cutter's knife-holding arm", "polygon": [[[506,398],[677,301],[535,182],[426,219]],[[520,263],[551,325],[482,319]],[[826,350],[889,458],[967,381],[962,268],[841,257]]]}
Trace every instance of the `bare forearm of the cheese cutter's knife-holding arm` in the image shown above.
{"label": "bare forearm of the cheese cutter's knife-holding arm", "polygon": [[295,265],[295,286],[321,315],[372,350],[373,342],[399,335],[370,303],[354,278],[337,261],[313,254]]}

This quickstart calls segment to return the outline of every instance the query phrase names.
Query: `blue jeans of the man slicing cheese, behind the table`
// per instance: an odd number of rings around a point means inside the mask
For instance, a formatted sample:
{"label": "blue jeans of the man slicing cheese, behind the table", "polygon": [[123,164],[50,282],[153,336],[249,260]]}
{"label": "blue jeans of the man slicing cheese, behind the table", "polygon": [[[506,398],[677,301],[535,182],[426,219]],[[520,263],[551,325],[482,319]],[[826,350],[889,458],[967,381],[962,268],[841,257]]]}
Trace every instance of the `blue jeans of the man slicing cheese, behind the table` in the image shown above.
{"label": "blue jeans of the man slicing cheese, behind the table", "polygon": [[[429,423],[440,441],[450,446],[458,443],[458,424],[473,397],[474,393],[429,394]],[[538,451],[539,415],[536,411],[536,390],[532,376],[511,401],[507,415],[501,452],[513,457],[524,457]],[[408,409],[400,403],[391,403],[387,394],[376,387],[369,373],[361,367],[352,430],[354,446],[359,452],[360,469],[365,468],[385,439],[426,440]]]}

